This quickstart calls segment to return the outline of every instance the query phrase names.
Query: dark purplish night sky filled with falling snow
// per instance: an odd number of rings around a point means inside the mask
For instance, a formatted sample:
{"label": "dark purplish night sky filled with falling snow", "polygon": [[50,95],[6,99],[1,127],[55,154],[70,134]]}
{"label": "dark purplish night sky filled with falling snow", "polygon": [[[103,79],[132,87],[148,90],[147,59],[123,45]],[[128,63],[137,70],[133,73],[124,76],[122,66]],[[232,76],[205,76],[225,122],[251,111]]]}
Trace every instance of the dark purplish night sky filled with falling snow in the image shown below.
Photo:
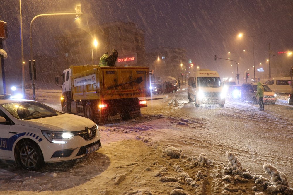
{"label": "dark purplish night sky filled with falling snow", "polygon": [[[32,18],[44,13],[75,12],[81,4],[81,22],[87,28],[120,20],[132,22],[145,32],[146,50],[155,47],[182,47],[195,66],[215,69],[221,76],[234,71],[230,61],[239,61],[239,71],[253,69],[251,37],[237,38],[238,33],[254,36],[255,65],[266,66],[268,44],[276,54],[272,61],[285,58],[279,51],[293,50],[292,0],[22,0],[23,44],[29,58],[29,25]],[[0,1],[0,20],[8,23],[6,66],[20,64],[20,16],[18,0]],[[74,16],[38,18],[33,23],[34,53],[54,55],[54,37],[77,29]],[[245,52],[243,50],[245,49]],[[228,54],[228,52],[231,52]],[[287,57],[288,58],[288,57]],[[288,58],[288,63],[293,57]],[[267,69],[267,67],[264,67]],[[18,70],[16,70],[18,71]],[[19,70],[21,71],[21,70]]]}

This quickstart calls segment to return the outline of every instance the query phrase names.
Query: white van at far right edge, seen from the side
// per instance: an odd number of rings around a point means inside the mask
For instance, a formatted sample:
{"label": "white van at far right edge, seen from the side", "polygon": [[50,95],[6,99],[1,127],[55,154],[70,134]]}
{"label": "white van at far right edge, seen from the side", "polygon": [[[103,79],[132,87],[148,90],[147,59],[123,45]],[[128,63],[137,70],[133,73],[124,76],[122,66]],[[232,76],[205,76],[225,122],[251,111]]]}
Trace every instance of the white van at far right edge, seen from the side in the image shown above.
{"label": "white van at far right edge, seen from the side", "polygon": [[290,76],[281,76],[270,78],[266,85],[275,93],[291,93],[291,77]]}

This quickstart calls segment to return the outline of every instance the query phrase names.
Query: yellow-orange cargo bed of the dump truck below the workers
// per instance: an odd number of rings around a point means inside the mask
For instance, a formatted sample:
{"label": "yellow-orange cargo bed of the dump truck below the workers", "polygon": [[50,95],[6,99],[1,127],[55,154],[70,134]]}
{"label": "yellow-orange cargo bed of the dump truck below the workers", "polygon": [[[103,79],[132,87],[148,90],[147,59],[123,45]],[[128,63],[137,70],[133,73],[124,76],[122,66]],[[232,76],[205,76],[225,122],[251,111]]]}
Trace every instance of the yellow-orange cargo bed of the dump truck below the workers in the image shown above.
{"label": "yellow-orange cargo bed of the dump truck below the workers", "polygon": [[71,66],[75,100],[111,100],[149,96],[148,67]]}

